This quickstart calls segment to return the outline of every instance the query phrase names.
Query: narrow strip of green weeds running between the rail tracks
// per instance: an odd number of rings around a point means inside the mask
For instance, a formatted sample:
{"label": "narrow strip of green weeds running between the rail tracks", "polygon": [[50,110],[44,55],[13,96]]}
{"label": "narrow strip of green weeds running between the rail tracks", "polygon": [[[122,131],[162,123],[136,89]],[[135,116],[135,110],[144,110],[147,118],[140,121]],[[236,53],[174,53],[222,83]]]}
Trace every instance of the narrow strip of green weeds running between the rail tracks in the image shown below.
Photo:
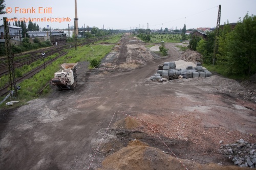
{"label": "narrow strip of green weeds running between the rail tracks", "polygon": [[[52,60],[49,60],[45,63],[45,66],[47,67],[48,65],[50,65],[52,62],[54,62],[56,59],[65,56],[67,54],[67,52],[64,52],[62,54],[60,54],[59,56],[55,57]],[[20,77],[18,79],[16,79],[16,83],[20,83],[23,80],[29,79],[31,77],[33,77],[35,74],[37,74],[37,72],[39,72],[40,70],[44,69],[44,65],[38,66],[36,68],[34,68],[33,70],[29,71],[26,75],[24,75],[23,77]],[[9,85],[6,85],[5,87],[3,87],[2,89],[0,89],[0,96],[6,94],[8,92],[8,87]]]}

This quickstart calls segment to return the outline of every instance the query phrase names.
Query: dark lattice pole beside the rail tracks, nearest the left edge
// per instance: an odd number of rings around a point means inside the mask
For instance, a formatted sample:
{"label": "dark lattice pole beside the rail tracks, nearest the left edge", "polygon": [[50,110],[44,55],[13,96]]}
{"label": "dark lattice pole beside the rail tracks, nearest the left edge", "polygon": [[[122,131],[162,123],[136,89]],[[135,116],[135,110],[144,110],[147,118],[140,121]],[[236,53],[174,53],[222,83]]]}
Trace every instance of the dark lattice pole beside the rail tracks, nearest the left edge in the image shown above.
{"label": "dark lattice pole beside the rail tracks, nearest the left edge", "polygon": [[5,48],[6,48],[8,69],[9,69],[9,83],[10,83],[12,96],[17,97],[18,93],[17,93],[17,86],[16,86],[16,79],[15,79],[15,72],[14,72],[14,63],[13,63],[14,55],[11,50],[11,40],[10,40],[7,17],[4,17],[3,20],[4,20],[4,29],[5,29]]}

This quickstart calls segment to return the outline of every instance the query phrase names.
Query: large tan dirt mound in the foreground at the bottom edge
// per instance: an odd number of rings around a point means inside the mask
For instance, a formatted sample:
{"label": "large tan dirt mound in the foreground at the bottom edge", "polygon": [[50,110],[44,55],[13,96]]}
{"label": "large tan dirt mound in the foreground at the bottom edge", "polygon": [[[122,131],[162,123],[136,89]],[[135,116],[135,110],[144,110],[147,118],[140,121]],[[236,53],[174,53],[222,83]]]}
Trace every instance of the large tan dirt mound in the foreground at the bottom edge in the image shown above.
{"label": "large tan dirt mound in the foreground at the bottom edge", "polygon": [[[148,170],[148,169],[208,169],[208,170],[227,170],[227,169],[242,169],[235,166],[220,166],[217,164],[200,165],[189,160],[177,159],[170,156],[159,149],[141,145],[141,141],[134,140],[127,147],[108,156],[102,162],[102,167],[98,170]],[[144,144],[144,143],[143,143]],[[182,162],[182,163],[181,163]],[[185,166],[183,166],[183,164]],[[244,169],[244,168],[243,168]]]}

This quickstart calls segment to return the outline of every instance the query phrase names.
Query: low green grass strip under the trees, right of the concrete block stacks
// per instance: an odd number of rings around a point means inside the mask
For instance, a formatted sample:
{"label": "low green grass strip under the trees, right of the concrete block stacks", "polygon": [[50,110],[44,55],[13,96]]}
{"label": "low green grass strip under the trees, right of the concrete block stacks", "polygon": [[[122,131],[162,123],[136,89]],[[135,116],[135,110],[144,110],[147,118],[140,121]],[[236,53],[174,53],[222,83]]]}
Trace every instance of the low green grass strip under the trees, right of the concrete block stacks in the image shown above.
{"label": "low green grass strip under the trees, right of the concrete block stacks", "polygon": [[243,80],[248,80],[250,76],[245,76],[245,75],[234,75],[234,74],[228,74],[226,71],[226,68],[224,66],[220,65],[207,65],[207,64],[202,64],[203,67],[207,68],[210,72],[215,72],[225,78],[228,79],[233,79],[233,80],[238,80],[238,81],[243,81]]}

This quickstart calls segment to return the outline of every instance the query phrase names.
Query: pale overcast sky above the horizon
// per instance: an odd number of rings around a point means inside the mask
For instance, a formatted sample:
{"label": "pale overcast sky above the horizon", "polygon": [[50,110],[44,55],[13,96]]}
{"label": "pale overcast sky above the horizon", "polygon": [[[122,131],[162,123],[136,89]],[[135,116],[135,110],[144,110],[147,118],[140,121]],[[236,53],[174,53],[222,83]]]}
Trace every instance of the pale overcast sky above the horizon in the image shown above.
{"label": "pale overcast sky above the horizon", "polygon": [[[9,14],[2,17],[13,18],[70,18],[71,21],[36,21],[40,28],[65,29],[74,26],[74,0],[5,0]],[[99,29],[186,29],[216,27],[218,9],[221,5],[221,25],[237,22],[246,13],[256,15],[255,0],[77,0],[78,27],[98,27]],[[40,7],[40,8],[39,8]],[[15,13],[16,8],[16,13]],[[43,9],[49,10],[43,10]],[[24,9],[28,14],[24,14]],[[34,9],[34,10],[33,10]],[[39,9],[41,13],[39,13]],[[47,13],[48,12],[48,13]],[[50,13],[52,12],[52,13]],[[2,21],[1,21],[2,22]],[[3,23],[1,23],[2,25]]]}

